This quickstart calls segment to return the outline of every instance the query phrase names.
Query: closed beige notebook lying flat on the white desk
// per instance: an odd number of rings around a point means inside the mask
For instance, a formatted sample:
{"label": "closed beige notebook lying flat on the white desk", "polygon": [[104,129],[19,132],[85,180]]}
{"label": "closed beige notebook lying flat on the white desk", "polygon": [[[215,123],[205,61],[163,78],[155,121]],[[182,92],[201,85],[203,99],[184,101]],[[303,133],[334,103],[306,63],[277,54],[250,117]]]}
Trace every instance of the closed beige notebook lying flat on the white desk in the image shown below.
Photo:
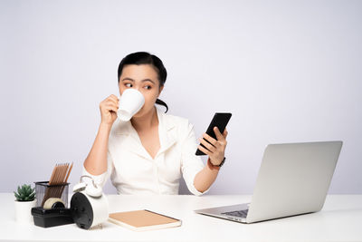
{"label": "closed beige notebook lying flat on the white desk", "polygon": [[136,231],[178,227],[182,224],[180,219],[170,218],[149,210],[111,213],[109,220]]}

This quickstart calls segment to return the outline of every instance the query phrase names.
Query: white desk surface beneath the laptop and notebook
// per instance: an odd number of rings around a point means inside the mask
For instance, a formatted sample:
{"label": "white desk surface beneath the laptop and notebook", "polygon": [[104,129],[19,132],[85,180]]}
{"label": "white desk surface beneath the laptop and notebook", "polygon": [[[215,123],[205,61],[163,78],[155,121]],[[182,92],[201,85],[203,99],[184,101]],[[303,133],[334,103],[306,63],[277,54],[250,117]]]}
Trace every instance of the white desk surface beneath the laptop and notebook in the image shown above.
{"label": "white desk surface beneath the laptop and notebook", "polygon": [[14,222],[14,195],[0,194],[0,241],[362,241],[362,195],[329,195],[318,213],[244,225],[194,209],[249,202],[251,196],[117,196],[110,212],[148,208],[183,221],[181,227],[134,232],[106,222],[102,229],[24,226]]}

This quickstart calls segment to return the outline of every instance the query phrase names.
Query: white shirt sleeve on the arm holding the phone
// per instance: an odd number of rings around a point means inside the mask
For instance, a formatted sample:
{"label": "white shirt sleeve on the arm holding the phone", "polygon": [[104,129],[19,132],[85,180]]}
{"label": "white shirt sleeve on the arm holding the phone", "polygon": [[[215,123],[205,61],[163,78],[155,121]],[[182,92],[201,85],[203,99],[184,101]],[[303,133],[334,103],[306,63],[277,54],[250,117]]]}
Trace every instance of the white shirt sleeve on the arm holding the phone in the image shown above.
{"label": "white shirt sleeve on the arm holding the phone", "polygon": [[187,122],[186,138],[183,141],[181,148],[181,170],[186,182],[187,189],[196,196],[203,195],[209,189],[204,192],[200,192],[195,189],[194,180],[196,174],[204,169],[204,163],[199,156],[195,155],[197,150],[197,143],[195,138],[194,126]]}

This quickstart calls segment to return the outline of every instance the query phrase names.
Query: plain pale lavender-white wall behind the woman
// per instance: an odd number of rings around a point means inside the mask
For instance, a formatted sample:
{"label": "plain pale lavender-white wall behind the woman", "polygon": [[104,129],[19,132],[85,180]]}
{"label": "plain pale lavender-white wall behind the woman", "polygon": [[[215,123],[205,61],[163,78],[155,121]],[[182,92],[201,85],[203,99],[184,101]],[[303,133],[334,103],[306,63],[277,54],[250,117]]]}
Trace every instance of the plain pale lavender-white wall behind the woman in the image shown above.
{"label": "plain pale lavender-white wall behind the woman", "polygon": [[[0,1],[0,192],[74,162],[78,182],[127,54],[196,136],[232,111],[211,194],[252,193],[269,143],[344,140],[330,193],[362,193],[361,1]],[[106,192],[113,193],[110,184]],[[185,185],[181,193],[187,193]]]}

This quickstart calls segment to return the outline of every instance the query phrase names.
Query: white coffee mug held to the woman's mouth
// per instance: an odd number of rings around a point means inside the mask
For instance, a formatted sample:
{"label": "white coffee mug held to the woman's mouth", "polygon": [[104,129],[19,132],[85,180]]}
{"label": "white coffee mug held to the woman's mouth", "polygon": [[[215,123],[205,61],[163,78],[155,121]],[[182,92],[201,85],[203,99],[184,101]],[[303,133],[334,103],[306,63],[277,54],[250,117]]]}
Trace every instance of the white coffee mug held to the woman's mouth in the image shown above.
{"label": "white coffee mug held to the woman's mouth", "polygon": [[125,90],[119,98],[117,116],[121,121],[129,121],[145,104],[145,98],[136,89]]}

